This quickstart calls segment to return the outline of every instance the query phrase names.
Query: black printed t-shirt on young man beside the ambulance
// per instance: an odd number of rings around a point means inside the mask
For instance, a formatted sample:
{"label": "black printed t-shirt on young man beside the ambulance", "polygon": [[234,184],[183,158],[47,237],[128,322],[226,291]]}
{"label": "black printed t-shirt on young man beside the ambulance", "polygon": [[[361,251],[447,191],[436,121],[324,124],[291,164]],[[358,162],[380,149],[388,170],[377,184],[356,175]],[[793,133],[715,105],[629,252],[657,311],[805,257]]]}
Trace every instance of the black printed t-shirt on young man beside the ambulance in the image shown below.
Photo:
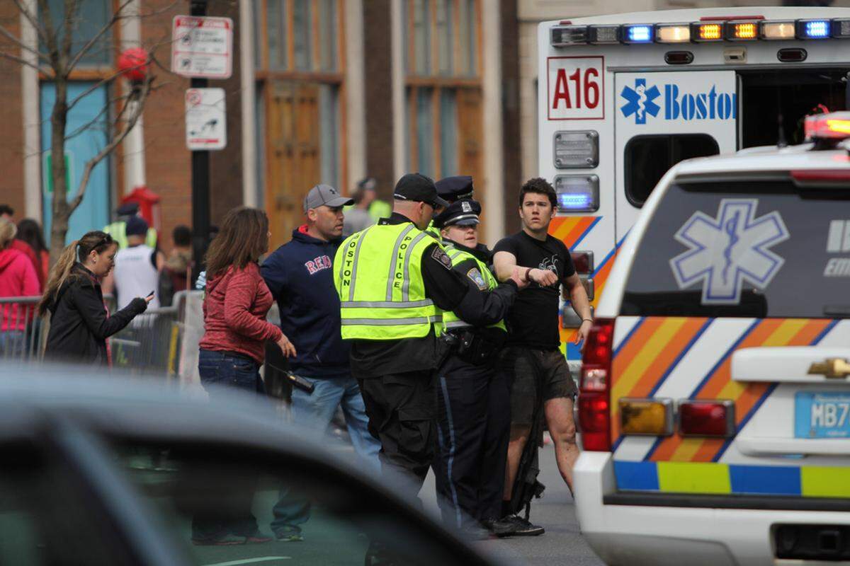
{"label": "black printed t-shirt on young man beside the ambulance", "polygon": [[[558,281],[575,273],[570,250],[558,238],[547,236],[542,242],[520,232],[502,238],[493,253],[507,251],[517,258],[517,265],[538,267],[558,273]],[[558,294],[560,283],[541,287],[531,283],[523,289],[507,314],[507,345],[522,345],[541,350],[556,350],[558,333]]]}

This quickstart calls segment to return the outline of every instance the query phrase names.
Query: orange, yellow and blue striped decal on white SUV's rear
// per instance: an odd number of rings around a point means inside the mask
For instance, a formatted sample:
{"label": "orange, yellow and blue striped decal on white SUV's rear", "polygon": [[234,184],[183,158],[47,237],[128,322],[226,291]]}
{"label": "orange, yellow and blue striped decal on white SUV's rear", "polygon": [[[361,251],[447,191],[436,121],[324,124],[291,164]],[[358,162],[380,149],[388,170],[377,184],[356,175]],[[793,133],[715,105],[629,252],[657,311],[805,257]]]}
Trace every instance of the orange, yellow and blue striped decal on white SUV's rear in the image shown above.
{"label": "orange, yellow and blue striped decal on white SUV's rear", "polygon": [[[612,438],[619,444],[617,400],[655,394],[715,319],[645,317],[618,345],[612,367]],[[735,403],[740,430],[774,391],[775,384],[740,383],[731,379],[732,354],[740,348],[816,345],[837,321],[828,319],[768,318],[753,322],[687,395],[690,399],[729,399]],[[660,437],[644,457],[653,462],[717,462],[731,440]]]}

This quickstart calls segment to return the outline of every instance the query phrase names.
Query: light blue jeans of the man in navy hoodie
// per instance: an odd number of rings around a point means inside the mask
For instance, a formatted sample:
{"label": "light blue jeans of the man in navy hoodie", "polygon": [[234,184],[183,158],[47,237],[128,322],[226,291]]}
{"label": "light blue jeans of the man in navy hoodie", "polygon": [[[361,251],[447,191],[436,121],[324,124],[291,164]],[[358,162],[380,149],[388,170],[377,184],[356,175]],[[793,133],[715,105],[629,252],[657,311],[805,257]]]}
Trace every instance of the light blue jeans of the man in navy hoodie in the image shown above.
{"label": "light blue jeans of the man in navy hoodie", "polygon": [[[369,417],[366,417],[357,380],[349,375],[307,379],[314,384],[315,389],[312,395],[300,389],[292,389],[292,420],[295,423],[309,423],[310,426],[327,428],[337,412],[337,406],[342,406],[354,451],[377,477],[381,473],[381,463],[377,457],[381,442],[369,434]],[[300,496],[290,494],[289,489],[284,487],[280,490],[280,501],[275,504],[273,511],[275,520],[271,524],[272,530],[299,531],[298,525],[306,523],[310,518],[310,503]]]}

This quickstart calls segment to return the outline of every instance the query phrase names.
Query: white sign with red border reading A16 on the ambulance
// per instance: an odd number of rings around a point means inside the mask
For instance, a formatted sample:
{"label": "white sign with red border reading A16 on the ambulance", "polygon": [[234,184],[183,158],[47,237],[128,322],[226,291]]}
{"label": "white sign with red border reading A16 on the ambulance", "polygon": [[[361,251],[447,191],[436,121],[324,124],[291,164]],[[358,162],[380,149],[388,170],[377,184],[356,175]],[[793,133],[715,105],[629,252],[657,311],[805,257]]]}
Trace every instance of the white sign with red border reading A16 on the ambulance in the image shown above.
{"label": "white sign with red border reading A16 on the ambulance", "polygon": [[604,57],[549,57],[547,67],[549,120],[604,119]]}

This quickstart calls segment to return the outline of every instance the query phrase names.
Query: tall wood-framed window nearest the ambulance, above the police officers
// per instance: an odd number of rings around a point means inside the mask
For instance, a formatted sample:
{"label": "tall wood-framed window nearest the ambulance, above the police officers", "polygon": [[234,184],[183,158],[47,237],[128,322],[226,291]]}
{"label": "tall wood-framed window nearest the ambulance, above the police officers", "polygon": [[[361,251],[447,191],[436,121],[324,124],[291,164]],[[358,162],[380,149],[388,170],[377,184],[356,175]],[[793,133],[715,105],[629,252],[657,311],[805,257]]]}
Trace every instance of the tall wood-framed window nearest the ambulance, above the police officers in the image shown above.
{"label": "tall wood-framed window nearest the ambulance, above the police officers", "polygon": [[481,72],[476,0],[405,0],[408,171],[479,171]]}

